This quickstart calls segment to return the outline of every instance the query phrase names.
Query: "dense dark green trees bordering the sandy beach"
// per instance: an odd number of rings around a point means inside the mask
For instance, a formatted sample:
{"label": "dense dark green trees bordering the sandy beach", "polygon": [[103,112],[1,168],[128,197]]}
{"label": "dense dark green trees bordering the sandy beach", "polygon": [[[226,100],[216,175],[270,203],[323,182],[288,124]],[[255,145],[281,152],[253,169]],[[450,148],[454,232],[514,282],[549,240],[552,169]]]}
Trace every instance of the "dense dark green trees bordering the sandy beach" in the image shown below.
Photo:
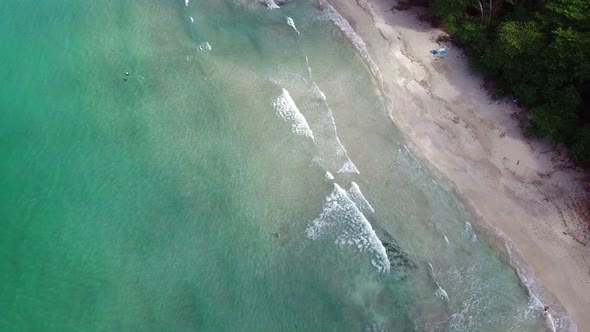
{"label": "dense dark green trees bordering the sandy beach", "polygon": [[530,111],[526,132],[590,161],[590,0],[430,0],[471,64]]}

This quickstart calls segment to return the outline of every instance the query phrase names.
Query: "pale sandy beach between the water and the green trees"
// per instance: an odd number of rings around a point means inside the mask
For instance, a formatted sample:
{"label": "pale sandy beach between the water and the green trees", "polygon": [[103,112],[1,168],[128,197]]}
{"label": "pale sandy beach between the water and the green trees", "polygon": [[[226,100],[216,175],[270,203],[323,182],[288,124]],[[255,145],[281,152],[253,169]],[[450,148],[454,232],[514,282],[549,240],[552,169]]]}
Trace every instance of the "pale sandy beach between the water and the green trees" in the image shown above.
{"label": "pale sandy beach between the water and the green trees", "polygon": [[[522,110],[494,101],[440,29],[392,0],[330,0],[366,43],[391,100],[390,117],[453,184],[478,229],[509,260],[557,330],[590,331],[590,239],[577,204],[586,193],[567,154],[526,139]],[[445,48],[446,55],[433,55]],[[567,317],[575,323],[573,325]]]}

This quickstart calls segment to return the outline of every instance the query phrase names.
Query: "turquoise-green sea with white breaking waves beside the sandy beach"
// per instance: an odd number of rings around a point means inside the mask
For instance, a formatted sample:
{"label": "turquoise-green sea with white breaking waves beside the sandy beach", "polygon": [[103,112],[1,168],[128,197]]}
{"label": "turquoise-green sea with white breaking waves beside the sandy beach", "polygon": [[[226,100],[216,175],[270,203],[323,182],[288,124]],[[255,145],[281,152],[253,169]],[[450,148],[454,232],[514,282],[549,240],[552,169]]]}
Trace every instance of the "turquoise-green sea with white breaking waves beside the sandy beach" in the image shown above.
{"label": "turquoise-green sea with white breaking waves beside the sandy beach", "polygon": [[330,8],[4,1],[0,28],[0,330],[543,329]]}

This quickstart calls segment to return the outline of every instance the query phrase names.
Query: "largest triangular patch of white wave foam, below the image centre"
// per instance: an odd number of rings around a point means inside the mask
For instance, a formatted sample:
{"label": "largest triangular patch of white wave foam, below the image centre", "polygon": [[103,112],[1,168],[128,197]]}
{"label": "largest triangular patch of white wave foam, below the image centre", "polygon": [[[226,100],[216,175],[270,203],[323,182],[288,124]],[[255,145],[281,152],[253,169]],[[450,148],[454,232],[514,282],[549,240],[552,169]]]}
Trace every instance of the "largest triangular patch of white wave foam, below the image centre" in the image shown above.
{"label": "largest triangular patch of white wave foam, below the image centre", "polygon": [[315,240],[333,230],[337,235],[335,243],[341,247],[356,247],[359,251],[369,251],[373,258],[371,264],[380,272],[389,272],[391,265],[385,247],[371,223],[348,197],[338,184],[326,197],[322,213],[307,225],[305,233]]}

